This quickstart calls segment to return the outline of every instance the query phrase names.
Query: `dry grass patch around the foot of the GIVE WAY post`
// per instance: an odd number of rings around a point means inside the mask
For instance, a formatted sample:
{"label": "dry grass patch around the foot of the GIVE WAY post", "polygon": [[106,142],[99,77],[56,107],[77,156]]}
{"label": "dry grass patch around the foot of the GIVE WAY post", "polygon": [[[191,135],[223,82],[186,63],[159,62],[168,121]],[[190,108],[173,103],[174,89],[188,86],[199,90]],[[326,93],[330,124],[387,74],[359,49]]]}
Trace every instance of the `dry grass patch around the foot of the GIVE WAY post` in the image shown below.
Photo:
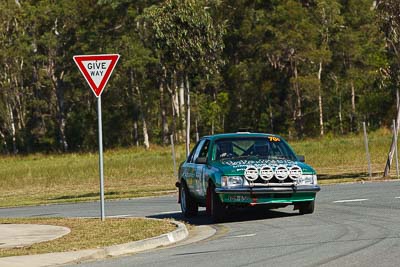
{"label": "dry grass patch around the foot of the GIVE WAY post", "polygon": [[81,218],[9,218],[0,219],[0,224],[2,223],[65,226],[70,228],[71,232],[58,239],[29,247],[0,249],[0,257],[100,248],[159,236],[176,228],[168,220],[142,218],[113,218],[104,222],[99,219]]}

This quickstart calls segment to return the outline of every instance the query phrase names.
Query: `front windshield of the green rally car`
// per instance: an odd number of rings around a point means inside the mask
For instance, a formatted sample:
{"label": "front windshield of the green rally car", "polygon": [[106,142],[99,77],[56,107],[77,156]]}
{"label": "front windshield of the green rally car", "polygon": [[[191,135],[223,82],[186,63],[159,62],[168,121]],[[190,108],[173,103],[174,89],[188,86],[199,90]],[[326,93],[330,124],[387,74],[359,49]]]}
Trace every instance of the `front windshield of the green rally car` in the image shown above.
{"label": "front windshield of the green rally car", "polygon": [[213,159],[288,159],[297,160],[292,149],[278,137],[227,138],[215,142]]}

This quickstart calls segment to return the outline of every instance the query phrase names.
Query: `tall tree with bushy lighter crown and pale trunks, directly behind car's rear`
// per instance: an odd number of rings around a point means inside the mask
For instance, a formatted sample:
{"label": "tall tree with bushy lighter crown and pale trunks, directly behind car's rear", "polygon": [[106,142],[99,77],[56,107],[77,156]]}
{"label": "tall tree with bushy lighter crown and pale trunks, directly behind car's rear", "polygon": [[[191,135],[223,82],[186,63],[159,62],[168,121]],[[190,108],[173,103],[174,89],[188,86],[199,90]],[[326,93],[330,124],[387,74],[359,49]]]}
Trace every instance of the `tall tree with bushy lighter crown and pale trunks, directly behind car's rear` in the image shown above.
{"label": "tall tree with bushy lighter crown and pale trunks, directly behind car's rear", "polygon": [[190,77],[200,72],[215,73],[224,47],[224,27],[215,25],[207,9],[205,1],[167,0],[146,9],[144,14],[152,31],[150,40],[160,56],[166,76],[171,77],[172,102],[181,117],[187,153],[190,144]]}

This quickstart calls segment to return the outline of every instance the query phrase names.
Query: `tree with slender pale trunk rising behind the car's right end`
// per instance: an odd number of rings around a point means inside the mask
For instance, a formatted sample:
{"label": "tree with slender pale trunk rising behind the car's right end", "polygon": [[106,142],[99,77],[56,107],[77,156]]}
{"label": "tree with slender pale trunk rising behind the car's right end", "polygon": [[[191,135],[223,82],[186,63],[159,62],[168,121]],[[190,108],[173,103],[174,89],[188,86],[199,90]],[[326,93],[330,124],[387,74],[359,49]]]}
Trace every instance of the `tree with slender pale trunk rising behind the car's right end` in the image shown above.
{"label": "tree with slender pale trunk rising behind the car's right end", "polygon": [[310,10],[299,1],[285,0],[274,5],[268,34],[271,42],[263,46],[274,68],[286,70],[292,93],[288,105],[298,136],[304,134],[303,101],[312,98],[316,78],[310,76],[313,52],[317,48],[318,29]]}

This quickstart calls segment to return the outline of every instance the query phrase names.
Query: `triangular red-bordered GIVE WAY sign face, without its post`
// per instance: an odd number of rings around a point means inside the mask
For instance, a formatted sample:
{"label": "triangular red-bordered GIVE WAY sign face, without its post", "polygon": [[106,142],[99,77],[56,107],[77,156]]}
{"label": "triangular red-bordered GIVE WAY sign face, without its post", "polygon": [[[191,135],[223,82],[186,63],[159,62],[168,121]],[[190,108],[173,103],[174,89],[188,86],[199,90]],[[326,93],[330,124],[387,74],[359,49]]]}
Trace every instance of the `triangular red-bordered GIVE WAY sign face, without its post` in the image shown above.
{"label": "triangular red-bordered GIVE WAY sign face, without its post", "polygon": [[118,54],[74,56],[76,65],[96,97],[103,92],[118,60]]}

